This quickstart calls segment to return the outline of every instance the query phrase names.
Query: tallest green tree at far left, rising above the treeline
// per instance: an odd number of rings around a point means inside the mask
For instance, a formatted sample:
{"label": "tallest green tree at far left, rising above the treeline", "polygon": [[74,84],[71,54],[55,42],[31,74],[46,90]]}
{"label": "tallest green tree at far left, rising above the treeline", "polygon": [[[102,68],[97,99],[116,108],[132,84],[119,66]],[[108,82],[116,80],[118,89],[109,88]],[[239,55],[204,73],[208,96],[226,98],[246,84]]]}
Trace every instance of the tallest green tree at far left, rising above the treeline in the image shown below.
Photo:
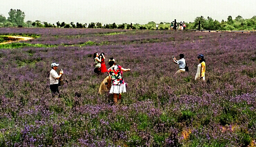
{"label": "tallest green tree at far left, rising above the treeline", "polygon": [[11,9],[10,12],[8,13],[8,21],[15,23],[17,25],[23,25],[24,24],[24,18],[25,18],[25,13],[19,9]]}

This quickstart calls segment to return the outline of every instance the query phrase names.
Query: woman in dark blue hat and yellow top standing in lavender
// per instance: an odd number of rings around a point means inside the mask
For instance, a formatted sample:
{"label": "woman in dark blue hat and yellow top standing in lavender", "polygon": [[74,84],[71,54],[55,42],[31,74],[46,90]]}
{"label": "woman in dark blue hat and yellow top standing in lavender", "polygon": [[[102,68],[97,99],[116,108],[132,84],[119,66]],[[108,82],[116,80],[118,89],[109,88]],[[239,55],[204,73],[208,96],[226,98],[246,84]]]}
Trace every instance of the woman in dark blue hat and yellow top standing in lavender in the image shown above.
{"label": "woman in dark blue hat and yellow top standing in lavender", "polygon": [[198,58],[200,63],[197,65],[197,72],[196,72],[195,80],[203,79],[203,81],[205,81],[205,59],[204,59],[204,55],[201,54],[197,58]]}

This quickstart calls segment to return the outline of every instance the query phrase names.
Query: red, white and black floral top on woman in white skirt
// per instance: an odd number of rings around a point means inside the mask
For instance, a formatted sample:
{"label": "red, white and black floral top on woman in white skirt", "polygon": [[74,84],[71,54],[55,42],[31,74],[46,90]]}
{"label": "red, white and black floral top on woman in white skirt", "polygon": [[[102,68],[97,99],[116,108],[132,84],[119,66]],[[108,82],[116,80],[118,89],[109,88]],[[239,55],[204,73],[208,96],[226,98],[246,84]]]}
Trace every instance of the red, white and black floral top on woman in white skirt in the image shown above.
{"label": "red, white and black floral top on woman in white skirt", "polygon": [[109,76],[111,76],[111,84],[112,85],[122,85],[124,84],[124,79],[121,74],[121,68],[120,65],[115,65],[114,67],[108,68],[107,73]]}

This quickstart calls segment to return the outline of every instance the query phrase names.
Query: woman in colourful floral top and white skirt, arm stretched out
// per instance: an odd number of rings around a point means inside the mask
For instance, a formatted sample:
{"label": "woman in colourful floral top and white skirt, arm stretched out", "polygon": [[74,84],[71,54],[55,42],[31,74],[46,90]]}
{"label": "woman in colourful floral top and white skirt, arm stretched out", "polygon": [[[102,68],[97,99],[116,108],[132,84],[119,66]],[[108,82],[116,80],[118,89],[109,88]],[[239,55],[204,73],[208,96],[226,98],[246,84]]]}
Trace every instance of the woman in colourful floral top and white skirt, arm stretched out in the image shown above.
{"label": "woman in colourful floral top and white skirt, arm stretched out", "polygon": [[108,83],[111,83],[111,88],[109,93],[114,94],[114,103],[117,104],[118,94],[119,96],[121,96],[120,93],[126,92],[126,85],[121,72],[131,71],[131,69],[130,68],[125,69],[120,65],[116,65],[114,58],[110,58],[108,61],[108,64],[110,66],[107,70],[108,76],[109,76]]}

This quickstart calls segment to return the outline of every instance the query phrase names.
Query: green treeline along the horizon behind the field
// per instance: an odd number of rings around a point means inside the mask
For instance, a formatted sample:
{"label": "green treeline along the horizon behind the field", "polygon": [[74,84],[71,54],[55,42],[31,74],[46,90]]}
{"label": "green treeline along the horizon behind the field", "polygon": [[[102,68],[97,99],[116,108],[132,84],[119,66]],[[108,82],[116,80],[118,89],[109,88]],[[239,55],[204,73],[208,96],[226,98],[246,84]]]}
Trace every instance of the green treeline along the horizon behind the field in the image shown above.
{"label": "green treeline along the horizon behind the field", "polygon": [[[156,22],[149,22],[148,24],[104,24],[100,22],[91,22],[89,24],[79,23],[79,22],[56,22],[56,24],[50,24],[48,22],[36,21],[26,21],[24,22],[25,13],[21,10],[11,9],[8,13],[9,17],[0,15],[0,27],[45,27],[45,28],[105,28],[105,29],[156,29]],[[196,17],[194,22],[188,22],[186,24],[186,29],[198,29],[198,22],[201,21],[200,29],[205,30],[255,30],[256,29],[256,16],[250,19],[244,19],[242,16],[237,16],[233,19],[228,16],[228,20],[214,20],[211,17],[204,18],[203,16]],[[182,21],[183,22],[183,21]],[[179,21],[177,21],[177,24]],[[170,29],[170,22],[160,22],[159,29]]]}

